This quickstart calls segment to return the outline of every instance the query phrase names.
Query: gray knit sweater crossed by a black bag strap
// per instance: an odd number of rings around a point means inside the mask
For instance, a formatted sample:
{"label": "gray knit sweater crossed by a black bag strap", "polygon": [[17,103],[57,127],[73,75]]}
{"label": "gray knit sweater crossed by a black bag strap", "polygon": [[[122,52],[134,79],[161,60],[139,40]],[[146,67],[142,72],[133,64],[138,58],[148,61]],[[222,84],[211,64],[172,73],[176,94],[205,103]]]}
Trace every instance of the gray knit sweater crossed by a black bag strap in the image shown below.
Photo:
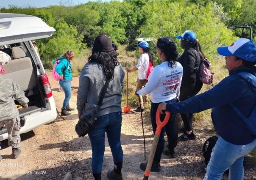
{"label": "gray knit sweater crossed by a black bag strap", "polygon": [[[114,69],[114,79],[109,82],[103,103],[100,106],[98,116],[107,115],[113,112],[122,111],[121,98],[123,79],[125,71],[121,64]],[[78,114],[88,115],[95,109],[98,104],[100,93],[106,82],[106,77],[102,70],[102,65],[92,62],[86,63],[79,77],[79,87],[77,94]]]}

